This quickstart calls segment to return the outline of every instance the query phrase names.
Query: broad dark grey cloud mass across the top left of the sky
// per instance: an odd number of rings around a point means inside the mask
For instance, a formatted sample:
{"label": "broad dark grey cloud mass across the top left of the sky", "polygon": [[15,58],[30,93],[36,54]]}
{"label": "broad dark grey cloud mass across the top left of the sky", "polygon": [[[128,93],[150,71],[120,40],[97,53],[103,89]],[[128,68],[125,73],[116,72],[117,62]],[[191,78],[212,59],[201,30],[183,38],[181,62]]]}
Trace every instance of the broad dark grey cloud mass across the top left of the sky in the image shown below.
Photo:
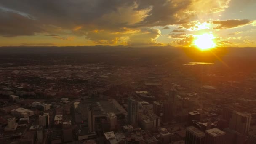
{"label": "broad dark grey cloud mass across the top left of the sky", "polygon": [[59,27],[90,24],[117,7],[131,5],[127,0],[1,0],[5,8],[28,13],[38,21]]}

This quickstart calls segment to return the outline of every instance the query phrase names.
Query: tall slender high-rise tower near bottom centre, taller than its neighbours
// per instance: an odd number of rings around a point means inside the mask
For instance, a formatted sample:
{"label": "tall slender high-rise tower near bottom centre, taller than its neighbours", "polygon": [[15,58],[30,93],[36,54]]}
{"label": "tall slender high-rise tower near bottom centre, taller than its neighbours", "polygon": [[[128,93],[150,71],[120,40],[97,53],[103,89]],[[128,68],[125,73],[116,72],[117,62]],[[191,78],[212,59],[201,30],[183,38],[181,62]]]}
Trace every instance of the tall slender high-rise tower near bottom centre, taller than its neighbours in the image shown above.
{"label": "tall slender high-rise tower near bottom centre, taller than its neighbours", "polygon": [[128,98],[128,123],[137,125],[138,122],[138,102],[132,97]]}

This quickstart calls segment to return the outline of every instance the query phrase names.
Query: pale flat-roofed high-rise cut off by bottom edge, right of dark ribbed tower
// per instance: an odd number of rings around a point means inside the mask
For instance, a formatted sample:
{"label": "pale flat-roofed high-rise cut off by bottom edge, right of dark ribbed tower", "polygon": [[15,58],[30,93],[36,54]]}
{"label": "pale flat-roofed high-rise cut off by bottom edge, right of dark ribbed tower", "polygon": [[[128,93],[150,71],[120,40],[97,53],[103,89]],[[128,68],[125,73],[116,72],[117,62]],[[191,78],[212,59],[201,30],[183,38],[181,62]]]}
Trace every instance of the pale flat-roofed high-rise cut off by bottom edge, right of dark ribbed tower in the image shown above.
{"label": "pale flat-roofed high-rise cut off by bottom edge, right of dark ribbed tower", "polygon": [[224,144],[224,131],[218,128],[213,128],[205,131],[205,144]]}

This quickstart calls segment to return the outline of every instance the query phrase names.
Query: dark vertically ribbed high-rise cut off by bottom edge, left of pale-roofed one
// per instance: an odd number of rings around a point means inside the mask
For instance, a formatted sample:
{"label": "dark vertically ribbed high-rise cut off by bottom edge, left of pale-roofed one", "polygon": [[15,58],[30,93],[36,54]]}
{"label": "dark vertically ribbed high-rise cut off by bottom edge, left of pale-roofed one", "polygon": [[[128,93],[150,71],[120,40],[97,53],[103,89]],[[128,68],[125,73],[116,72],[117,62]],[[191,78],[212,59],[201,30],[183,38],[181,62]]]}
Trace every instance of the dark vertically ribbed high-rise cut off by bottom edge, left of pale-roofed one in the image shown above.
{"label": "dark vertically ribbed high-rise cut off by bottom edge, left of pale-roofed one", "polygon": [[205,133],[194,126],[187,127],[185,144],[205,144]]}

